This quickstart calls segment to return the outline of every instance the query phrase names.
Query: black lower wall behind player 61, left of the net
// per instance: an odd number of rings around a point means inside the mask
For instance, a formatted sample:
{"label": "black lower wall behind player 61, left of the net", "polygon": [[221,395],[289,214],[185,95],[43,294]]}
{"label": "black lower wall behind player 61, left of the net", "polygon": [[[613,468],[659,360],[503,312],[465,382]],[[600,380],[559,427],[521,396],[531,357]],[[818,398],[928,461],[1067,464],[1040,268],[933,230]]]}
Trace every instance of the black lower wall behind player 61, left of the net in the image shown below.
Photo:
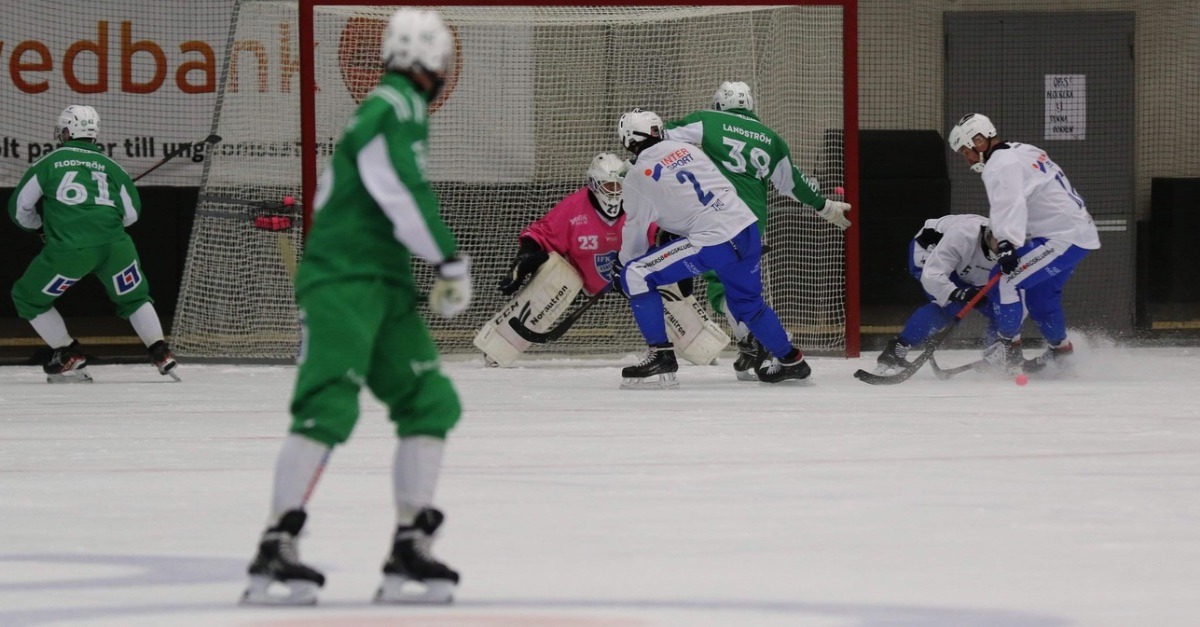
{"label": "black lower wall behind player 61, left of the net", "polygon": [[[128,233],[137,245],[142,270],[150,281],[150,295],[164,329],[169,329],[175,316],[198,191],[197,187],[138,187],[142,217],[128,228]],[[42,249],[37,235],[22,231],[7,217],[10,196],[11,187],[0,189],[0,203],[6,208],[5,219],[0,220],[0,241],[4,243],[0,246],[0,318],[17,317],[12,305],[12,285]],[[95,277],[72,287],[55,306],[64,316],[115,315],[115,307]]]}

